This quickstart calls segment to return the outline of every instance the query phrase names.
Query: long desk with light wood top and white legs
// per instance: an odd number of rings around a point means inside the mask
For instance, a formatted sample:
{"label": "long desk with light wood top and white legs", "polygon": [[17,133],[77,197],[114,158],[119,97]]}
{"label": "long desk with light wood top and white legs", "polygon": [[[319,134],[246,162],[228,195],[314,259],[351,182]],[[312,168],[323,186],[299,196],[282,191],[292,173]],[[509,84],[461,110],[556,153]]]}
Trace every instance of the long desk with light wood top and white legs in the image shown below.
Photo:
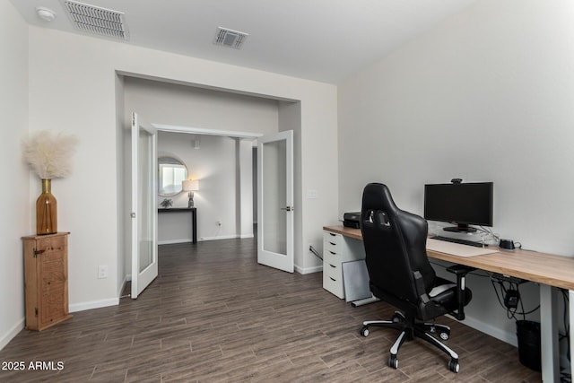
{"label": "long desk with light wood top and white legs", "polygon": [[[359,229],[325,226],[323,230],[362,240]],[[542,379],[544,382],[560,381],[558,322],[557,315],[554,313],[557,302],[556,294],[552,293],[552,290],[554,288],[568,290],[570,302],[574,302],[574,258],[520,249],[497,251],[474,257],[457,257],[430,249],[427,249],[427,254],[431,258],[453,264],[467,265],[540,283]],[[574,304],[570,304],[569,310],[570,355],[574,355]]]}

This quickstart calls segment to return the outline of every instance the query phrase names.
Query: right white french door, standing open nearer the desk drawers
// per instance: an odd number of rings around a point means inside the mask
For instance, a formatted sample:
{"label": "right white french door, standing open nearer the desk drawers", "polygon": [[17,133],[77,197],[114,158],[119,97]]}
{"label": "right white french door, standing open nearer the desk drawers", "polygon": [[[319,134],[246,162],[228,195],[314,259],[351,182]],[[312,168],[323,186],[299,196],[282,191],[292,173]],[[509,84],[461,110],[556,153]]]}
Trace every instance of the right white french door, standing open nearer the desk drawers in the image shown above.
{"label": "right white french door, standing open nearer the desk drawers", "polygon": [[257,262],[293,272],[293,131],[257,138]]}

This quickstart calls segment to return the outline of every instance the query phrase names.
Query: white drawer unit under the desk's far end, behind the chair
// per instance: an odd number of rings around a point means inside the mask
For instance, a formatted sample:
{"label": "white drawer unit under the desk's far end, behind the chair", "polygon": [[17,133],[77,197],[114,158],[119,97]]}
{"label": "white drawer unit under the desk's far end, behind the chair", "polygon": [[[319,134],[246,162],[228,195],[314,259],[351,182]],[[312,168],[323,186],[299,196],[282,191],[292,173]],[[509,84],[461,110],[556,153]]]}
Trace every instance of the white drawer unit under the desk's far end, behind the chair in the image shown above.
{"label": "white drawer unit under the desk's far end, behind the chair", "polygon": [[361,241],[323,231],[323,288],[344,299],[343,264],[364,258]]}

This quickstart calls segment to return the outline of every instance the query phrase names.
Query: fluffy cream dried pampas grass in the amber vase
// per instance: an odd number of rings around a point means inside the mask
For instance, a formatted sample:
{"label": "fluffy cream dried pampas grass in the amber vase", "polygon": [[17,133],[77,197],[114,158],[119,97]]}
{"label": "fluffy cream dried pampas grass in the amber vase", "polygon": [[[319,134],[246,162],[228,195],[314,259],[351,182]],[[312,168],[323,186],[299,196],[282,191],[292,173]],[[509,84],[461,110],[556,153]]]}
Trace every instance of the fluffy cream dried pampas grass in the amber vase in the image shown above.
{"label": "fluffy cream dried pampas grass in the amber vase", "polygon": [[39,178],[64,178],[72,172],[70,157],[77,143],[75,135],[41,130],[22,142],[22,156]]}

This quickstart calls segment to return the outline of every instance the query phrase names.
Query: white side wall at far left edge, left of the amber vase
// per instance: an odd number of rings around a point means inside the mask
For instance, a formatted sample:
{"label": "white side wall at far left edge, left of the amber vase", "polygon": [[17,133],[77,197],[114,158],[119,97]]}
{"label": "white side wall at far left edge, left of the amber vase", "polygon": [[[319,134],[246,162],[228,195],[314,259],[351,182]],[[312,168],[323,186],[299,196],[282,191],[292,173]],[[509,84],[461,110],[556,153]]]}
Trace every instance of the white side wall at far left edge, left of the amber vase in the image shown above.
{"label": "white side wall at far left edge, left of the amber vase", "polygon": [[[0,2],[0,349],[24,326],[22,240],[34,234],[30,222],[30,171],[20,144],[28,133],[28,27],[10,2]],[[38,181],[39,182],[39,181]],[[38,196],[36,196],[38,197]],[[33,223],[33,225],[32,225]]]}

